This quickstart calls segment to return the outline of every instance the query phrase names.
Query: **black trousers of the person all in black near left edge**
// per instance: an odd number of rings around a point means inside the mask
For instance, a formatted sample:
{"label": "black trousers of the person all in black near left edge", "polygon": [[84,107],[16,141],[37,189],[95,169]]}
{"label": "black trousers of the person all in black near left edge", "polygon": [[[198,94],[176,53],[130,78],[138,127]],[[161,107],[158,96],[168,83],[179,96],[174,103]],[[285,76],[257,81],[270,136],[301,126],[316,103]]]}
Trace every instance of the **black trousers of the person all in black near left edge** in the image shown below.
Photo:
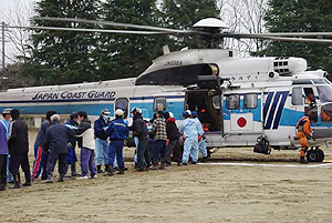
{"label": "black trousers of the person all in black near left edge", "polygon": [[31,172],[30,172],[28,152],[10,155],[9,171],[14,176],[14,180],[18,183],[20,183],[20,170],[19,170],[20,166],[24,172],[25,182],[30,182]]}

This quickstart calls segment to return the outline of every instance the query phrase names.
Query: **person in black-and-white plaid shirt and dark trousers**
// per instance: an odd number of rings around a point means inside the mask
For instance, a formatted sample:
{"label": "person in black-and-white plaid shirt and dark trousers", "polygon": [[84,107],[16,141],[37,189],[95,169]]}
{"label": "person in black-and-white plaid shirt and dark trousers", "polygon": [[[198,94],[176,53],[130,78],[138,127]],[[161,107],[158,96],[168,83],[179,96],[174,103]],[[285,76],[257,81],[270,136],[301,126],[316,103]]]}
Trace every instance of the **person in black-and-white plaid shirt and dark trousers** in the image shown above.
{"label": "person in black-and-white plaid shirt and dark trousers", "polygon": [[[164,119],[164,112],[158,111],[156,118],[153,122],[152,133],[155,135],[155,151],[154,151],[154,170],[165,170],[166,165],[166,121]],[[160,163],[159,163],[160,162]]]}

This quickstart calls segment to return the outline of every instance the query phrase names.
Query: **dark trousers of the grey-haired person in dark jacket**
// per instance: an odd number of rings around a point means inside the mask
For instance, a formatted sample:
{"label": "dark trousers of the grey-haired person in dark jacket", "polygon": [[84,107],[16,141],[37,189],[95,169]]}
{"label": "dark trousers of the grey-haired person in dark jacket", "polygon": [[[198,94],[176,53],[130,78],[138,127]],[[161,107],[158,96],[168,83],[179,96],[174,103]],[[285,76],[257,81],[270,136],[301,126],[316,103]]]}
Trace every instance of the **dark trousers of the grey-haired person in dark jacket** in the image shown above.
{"label": "dark trousers of the grey-haired person in dark jacket", "polygon": [[63,178],[65,175],[66,172],[65,156],[66,153],[58,153],[55,151],[50,151],[48,168],[46,168],[48,179],[53,179],[53,172],[58,160],[59,160],[58,170],[59,170],[60,178]]}

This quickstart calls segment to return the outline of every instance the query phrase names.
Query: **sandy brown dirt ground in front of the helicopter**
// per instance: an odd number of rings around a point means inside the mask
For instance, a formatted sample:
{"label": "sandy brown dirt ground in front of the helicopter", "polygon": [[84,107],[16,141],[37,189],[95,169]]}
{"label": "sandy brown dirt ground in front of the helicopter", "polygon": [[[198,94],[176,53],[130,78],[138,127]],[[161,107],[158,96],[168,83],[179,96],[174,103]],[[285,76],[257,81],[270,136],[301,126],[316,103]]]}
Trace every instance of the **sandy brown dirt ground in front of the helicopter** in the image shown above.
{"label": "sandy brown dirt ground in front of the helicopter", "polygon": [[[33,140],[31,141],[31,143]],[[221,149],[205,164],[42,184],[0,193],[1,222],[332,222],[332,150]],[[32,155],[32,152],[31,152]],[[133,156],[133,149],[125,149]],[[131,160],[131,159],[129,159]],[[58,173],[55,173],[56,176]]]}

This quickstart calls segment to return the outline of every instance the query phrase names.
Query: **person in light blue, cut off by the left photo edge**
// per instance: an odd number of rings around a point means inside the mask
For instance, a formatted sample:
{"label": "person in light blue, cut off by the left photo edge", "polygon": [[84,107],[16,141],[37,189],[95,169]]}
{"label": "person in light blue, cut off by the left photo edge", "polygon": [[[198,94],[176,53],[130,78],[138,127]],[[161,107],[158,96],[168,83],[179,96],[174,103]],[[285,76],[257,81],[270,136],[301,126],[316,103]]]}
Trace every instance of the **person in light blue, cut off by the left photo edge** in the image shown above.
{"label": "person in light blue, cut off by the left photo edge", "polygon": [[4,109],[0,120],[0,191],[6,190],[7,184],[7,158],[8,158],[8,131],[10,125],[10,111]]}

